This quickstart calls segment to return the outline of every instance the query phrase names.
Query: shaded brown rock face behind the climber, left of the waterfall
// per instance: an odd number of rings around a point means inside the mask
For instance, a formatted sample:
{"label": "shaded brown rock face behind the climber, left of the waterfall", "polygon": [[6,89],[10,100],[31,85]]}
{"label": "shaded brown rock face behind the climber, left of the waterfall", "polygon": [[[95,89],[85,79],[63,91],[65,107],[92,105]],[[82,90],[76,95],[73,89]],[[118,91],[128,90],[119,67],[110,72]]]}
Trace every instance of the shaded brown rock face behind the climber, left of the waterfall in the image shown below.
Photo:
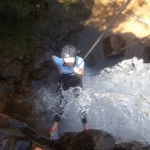
{"label": "shaded brown rock face behind the climber, left of the waterfall", "polygon": [[[0,54],[0,112],[33,123],[28,119],[34,116],[32,80],[43,82],[56,70],[51,56],[59,56],[66,44],[76,44],[93,4],[93,0],[49,1],[49,10],[44,11],[41,1],[41,15],[33,22],[30,53]],[[89,64],[93,66],[92,59],[90,57]]]}

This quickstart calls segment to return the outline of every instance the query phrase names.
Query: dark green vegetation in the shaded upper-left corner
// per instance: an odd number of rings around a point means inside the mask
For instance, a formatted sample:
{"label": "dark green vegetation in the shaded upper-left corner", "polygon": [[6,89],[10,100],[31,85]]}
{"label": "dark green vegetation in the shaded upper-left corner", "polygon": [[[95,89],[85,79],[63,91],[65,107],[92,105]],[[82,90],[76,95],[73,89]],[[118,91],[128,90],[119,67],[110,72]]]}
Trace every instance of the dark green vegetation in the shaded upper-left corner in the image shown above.
{"label": "dark green vegetation in the shaded upper-left corner", "polygon": [[30,49],[31,14],[39,0],[1,0],[0,52]]}

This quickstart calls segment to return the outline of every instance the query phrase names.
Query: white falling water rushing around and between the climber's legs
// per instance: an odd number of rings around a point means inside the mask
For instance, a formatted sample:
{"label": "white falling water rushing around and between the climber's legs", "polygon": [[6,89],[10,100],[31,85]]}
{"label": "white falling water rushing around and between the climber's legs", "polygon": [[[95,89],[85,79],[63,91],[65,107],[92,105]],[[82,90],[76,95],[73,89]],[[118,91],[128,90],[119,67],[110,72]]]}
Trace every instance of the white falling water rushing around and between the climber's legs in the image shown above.
{"label": "white falling water rushing around and between the climber's legs", "polygon": [[[99,69],[101,62],[92,69],[85,69],[83,97],[88,110],[88,126],[111,133],[120,142],[150,141],[150,64],[136,57]],[[56,82],[56,81],[55,81]],[[53,123],[58,101],[55,84],[38,89],[36,103],[40,125]],[[70,93],[70,94],[69,94]],[[68,105],[59,124],[59,133],[81,131],[81,121],[71,91]]]}

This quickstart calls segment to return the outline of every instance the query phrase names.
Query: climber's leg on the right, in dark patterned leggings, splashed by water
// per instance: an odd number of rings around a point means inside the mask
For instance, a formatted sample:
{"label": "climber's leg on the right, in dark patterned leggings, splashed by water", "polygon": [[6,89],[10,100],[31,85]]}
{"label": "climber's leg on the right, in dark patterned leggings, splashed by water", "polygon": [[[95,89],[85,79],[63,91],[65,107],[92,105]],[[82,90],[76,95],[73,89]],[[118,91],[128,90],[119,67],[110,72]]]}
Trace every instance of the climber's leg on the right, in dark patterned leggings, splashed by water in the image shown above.
{"label": "climber's leg on the right, in dark patterned leggings, splashed by water", "polygon": [[83,130],[87,130],[88,129],[87,112],[85,109],[85,103],[83,101],[82,88],[81,87],[75,87],[74,95],[75,95],[76,103],[78,106],[79,115],[80,115],[80,118],[81,118],[82,123],[83,123]]}

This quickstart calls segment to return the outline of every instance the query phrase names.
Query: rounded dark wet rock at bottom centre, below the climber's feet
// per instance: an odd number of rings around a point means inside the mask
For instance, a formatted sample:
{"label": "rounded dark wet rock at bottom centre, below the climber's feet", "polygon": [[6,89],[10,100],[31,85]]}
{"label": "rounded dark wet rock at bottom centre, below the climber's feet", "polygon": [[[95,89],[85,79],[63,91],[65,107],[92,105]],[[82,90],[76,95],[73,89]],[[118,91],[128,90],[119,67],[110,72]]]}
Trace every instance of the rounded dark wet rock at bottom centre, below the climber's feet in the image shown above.
{"label": "rounded dark wet rock at bottom centre, below the climber's feet", "polygon": [[65,133],[56,142],[54,150],[110,150],[115,139],[102,130],[89,129],[80,133]]}

